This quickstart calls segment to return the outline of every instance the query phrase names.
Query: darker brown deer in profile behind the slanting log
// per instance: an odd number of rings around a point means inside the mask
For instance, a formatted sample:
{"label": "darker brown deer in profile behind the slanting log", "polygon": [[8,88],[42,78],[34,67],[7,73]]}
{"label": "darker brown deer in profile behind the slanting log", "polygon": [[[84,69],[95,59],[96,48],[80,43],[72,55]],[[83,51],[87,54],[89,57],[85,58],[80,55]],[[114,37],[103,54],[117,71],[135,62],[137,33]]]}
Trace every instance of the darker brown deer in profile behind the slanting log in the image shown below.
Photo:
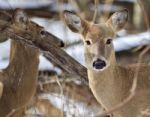
{"label": "darker brown deer in profile behind the slanting log", "polygon": [[[21,9],[16,9],[10,19],[14,29],[32,31],[33,39],[47,36],[43,27],[31,22]],[[11,40],[9,65],[0,70],[0,117],[23,117],[36,92],[39,53],[35,46]]]}

